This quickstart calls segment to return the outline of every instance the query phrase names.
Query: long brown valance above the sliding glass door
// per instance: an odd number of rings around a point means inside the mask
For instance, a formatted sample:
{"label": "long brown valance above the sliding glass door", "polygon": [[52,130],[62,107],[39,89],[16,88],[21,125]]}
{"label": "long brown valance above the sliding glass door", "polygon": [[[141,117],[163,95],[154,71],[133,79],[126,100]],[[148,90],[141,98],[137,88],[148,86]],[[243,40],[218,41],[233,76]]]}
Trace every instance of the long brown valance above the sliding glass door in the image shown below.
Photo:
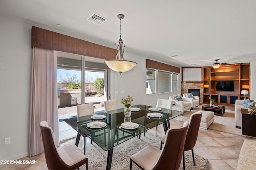
{"label": "long brown valance above the sliding glass door", "polygon": [[116,59],[116,49],[35,26],[32,26],[31,47],[63,51],[106,60]]}

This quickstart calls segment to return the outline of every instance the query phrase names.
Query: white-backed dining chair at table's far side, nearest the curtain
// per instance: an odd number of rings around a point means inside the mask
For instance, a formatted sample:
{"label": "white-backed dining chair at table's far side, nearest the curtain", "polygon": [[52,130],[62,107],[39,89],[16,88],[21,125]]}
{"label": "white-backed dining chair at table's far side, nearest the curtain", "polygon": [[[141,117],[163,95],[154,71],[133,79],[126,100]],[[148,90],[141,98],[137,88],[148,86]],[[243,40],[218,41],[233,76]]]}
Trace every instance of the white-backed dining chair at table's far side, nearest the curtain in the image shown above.
{"label": "white-backed dining chair at table's far side, nearest the curtain", "polygon": [[[92,114],[94,114],[93,103],[81,104],[77,106],[77,117],[92,115]],[[77,135],[79,134],[77,133]],[[86,144],[86,140],[84,137],[84,154],[85,154],[85,144]]]}

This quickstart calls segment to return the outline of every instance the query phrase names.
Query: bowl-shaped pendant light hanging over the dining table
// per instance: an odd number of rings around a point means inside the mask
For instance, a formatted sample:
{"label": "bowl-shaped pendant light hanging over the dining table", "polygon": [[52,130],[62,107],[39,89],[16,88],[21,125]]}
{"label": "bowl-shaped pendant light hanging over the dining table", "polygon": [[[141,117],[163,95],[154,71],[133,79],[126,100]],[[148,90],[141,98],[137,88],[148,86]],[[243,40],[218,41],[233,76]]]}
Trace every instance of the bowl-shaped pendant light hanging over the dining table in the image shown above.
{"label": "bowl-shaped pendant light hanging over the dining table", "polygon": [[124,15],[123,14],[118,14],[117,18],[120,19],[120,39],[118,41],[118,43],[115,43],[116,47],[116,59],[115,60],[107,60],[104,61],[105,64],[107,64],[107,66],[116,71],[116,72],[120,72],[120,74],[122,72],[126,72],[131,70],[132,68],[134,68],[134,66],[137,65],[137,63],[133,62],[133,61],[127,61],[124,60],[124,43],[123,40],[121,38],[121,34],[122,34],[122,29],[121,29],[121,20],[124,19]]}

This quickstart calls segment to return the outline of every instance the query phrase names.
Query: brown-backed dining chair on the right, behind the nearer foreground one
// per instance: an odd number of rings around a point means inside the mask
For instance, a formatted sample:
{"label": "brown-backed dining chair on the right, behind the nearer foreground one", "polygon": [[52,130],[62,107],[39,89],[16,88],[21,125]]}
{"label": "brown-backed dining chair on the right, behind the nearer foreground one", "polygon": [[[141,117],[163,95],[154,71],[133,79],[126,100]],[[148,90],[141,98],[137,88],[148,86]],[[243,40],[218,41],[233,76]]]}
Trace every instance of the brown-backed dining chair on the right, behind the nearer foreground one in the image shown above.
{"label": "brown-backed dining chair on the right, behind the nearer foreground one", "polygon": [[[193,113],[190,116],[188,133],[187,133],[186,141],[185,141],[185,145],[184,145],[184,152],[187,150],[192,151],[194,166],[196,165],[196,163],[195,163],[193,148],[196,145],[198,131],[199,131],[200,123],[201,123],[201,117],[202,117],[201,111]],[[162,148],[162,144],[164,144],[164,141],[165,141],[165,137],[163,137],[161,139],[161,147],[160,148]],[[185,170],[185,154],[184,154],[184,152],[183,152],[183,169]]]}

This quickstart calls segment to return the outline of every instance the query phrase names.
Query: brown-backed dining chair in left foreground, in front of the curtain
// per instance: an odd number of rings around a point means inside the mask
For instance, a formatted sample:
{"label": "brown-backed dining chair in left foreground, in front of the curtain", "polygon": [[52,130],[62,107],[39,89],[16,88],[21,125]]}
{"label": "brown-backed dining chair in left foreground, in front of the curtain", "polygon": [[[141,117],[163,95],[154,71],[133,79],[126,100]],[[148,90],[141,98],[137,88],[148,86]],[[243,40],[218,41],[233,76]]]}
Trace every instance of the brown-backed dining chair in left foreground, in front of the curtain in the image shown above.
{"label": "brown-backed dining chair in left foreground, in front of the curtain", "polygon": [[52,128],[46,121],[40,123],[44,156],[49,170],[75,170],[86,164],[88,170],[88,158],[74,144],[57,147]]}

